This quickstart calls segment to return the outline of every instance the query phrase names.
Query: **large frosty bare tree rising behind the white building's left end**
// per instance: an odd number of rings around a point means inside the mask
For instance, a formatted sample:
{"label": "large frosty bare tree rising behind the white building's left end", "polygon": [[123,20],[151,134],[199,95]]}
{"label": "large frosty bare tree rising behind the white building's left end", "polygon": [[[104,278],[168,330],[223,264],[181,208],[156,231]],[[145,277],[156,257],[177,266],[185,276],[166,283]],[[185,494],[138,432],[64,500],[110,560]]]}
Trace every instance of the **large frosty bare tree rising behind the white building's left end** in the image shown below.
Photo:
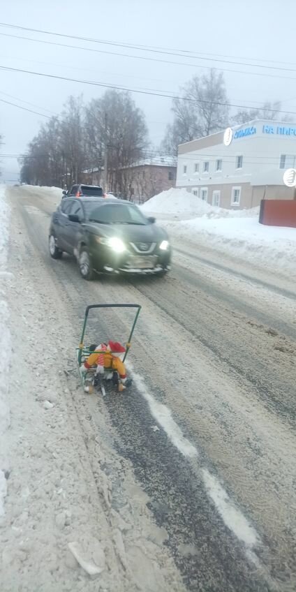
{"label": "large frosty bare tree rising behind the white building's left end", "polygon": [[211,69],[207,75],[193,77],[174,98],[174,121],[162,142],[168,154],[177,154],[179,144],[219,131],[228,125],[229,108],[223,73]]}

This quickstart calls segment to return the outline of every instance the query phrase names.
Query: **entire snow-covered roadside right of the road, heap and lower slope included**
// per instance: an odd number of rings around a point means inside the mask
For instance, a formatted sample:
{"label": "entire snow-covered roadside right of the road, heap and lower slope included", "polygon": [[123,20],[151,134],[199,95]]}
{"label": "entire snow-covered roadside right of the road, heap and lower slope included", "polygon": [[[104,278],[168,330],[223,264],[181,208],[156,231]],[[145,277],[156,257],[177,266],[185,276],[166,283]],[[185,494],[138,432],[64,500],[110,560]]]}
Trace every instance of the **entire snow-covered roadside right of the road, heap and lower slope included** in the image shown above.
{"label": "entire snow-covered roadside right of the road, heap and lower slope included", "polygon": [[216,249],[256,265],[296,272],[296,228],[265,226],[259,210],[227,210],[211,206],[184,189],[155,195],[142,206],[155,214],[172,237]]}

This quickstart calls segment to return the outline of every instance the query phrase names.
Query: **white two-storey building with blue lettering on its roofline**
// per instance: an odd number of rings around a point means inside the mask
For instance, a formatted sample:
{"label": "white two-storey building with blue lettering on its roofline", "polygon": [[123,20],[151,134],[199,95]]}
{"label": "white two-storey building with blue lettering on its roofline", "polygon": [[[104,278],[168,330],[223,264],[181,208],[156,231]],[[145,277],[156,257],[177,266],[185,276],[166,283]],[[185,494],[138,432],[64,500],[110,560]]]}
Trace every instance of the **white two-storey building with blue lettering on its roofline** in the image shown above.
{"label": "white two-storey building with blue lettering on its roofline", "polygon": [[202,200],[249,208],[293,199],[283,172],[296,165],[296,124],[255,120],[179,145],[177,182]]}

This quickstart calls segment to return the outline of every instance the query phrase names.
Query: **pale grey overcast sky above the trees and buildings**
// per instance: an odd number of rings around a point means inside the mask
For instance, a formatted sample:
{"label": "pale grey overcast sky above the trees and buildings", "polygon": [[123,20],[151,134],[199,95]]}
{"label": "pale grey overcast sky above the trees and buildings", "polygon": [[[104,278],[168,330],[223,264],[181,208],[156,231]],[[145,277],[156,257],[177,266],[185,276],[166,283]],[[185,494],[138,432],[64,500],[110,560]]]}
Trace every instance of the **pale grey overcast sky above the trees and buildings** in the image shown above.
{"label": "pale grey overcast sky above the trees and buildings", "polygon": [[[244,3],[237,0],[1,0],[0,21],[3,23],[115,43],[149,45],[177,52],[188,50],[204,58],[213,57],[213,61],[141,52],[1,26],[0,65],[131,89],[170,92],[177,92],[193,75],[205,73],[207,67],[215,67],[227,70],[224,75],[231,103],[252,107],[265,100],[280,100],[283,110],[296,112],[295,17],[295,0],[248,0]],[[182,62],[182,65],[46,45],[3,34]],[[288,70],[240,66],[214,58],[251,61]],[[70,94],[83,93],[84,101],[89,101],[104,92],[100,87],[78,82],[3,70],[0,88],[2,101],[47,115],[59,114]],[[146,114],[151,142],[158,145],[171,119],[170,99],[135,93],[133,98]],[[0,133],[5,142],[1,154],[23,154],[41,121],[47,120],[0,102]],[[0,168],[6,182],[17,179],[16,158],[1,158]]]}

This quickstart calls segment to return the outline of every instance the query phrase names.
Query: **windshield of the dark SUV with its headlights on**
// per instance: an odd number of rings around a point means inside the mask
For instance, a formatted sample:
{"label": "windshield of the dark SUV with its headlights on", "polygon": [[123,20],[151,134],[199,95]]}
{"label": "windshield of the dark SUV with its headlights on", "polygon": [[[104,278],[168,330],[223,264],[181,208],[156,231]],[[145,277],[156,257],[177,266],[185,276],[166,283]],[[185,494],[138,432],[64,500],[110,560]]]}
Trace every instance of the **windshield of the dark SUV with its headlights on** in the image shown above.
{"label": "windshield of the dark SUV with its headlights on", "polygon": [[92,206],[87,204],[87,217],[91,222],[101,224],[140,224],[146,225],[147,218],[140,209],[131,204],[104,204]]}

